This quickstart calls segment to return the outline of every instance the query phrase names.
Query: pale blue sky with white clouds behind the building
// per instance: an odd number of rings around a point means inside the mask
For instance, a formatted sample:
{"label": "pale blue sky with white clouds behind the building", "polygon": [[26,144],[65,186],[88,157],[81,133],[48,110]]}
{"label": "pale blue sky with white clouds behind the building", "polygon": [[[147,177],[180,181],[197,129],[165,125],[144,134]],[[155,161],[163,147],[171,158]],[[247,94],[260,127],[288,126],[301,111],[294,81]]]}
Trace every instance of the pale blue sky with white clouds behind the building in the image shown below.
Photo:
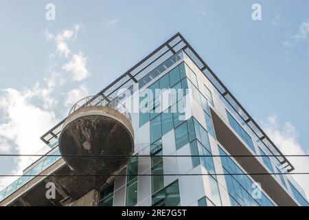
{"label": "pale blue sky with white clouds behind the building", "polygon": [[[55,21],[45,19],[47,3],[56,6]],[[253,3],[262,6],[262,21],[251,19]],[[68,98],[98,93],[181,32],[284,153],[309,152],[309,1],[0,4],[0,151],[35,153],[43,146],[36,137],[67,114]],[[4,163],[1,173],[25,164]]]}

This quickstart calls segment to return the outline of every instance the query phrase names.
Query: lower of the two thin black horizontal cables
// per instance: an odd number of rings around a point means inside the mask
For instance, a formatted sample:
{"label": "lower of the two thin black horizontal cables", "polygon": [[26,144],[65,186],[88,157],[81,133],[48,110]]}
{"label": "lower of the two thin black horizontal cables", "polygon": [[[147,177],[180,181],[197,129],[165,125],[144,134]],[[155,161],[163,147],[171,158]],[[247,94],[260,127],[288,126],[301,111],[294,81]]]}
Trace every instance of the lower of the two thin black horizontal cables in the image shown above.
{"label": "lower of the two thin black horizontal cables", "polygon": [[137,177],[137,176],[224,176],[224,175],[307,175],[309,173],[185,173],[185,174],[138,174],[138,175],[127,175],[127,174],[93,174],[93,175],[0,175],[0,177]]}

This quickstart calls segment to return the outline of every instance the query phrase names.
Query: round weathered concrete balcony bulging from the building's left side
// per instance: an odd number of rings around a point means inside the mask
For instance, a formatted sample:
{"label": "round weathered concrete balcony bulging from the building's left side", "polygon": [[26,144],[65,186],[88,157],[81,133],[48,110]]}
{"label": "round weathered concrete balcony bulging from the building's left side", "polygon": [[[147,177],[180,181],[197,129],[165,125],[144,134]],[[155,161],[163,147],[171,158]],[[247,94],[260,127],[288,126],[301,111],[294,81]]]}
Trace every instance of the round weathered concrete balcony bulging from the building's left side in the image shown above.
{"label": "round weathered concrete balcony bulging from the building's left side", "polygon": [[[59,149],[65,162],[81,175],[113,175],[119,173],[132,155],[133,127],[118,111],[108,107],[83,107],[67,118],[59,137]],[[66,155],[102,155],[102,157],[71,157]],[[95,187],[106,181],[96,176]]]}

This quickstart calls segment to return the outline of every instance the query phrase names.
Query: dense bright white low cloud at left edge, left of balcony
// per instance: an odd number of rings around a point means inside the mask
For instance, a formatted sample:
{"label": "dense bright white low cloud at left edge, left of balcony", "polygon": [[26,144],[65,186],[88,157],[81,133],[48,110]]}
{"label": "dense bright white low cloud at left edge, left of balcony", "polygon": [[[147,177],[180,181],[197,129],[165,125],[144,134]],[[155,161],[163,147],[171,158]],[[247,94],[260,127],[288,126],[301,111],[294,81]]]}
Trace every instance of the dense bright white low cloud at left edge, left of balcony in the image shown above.
{"label": "dense bright white low cloud at left edge, left of balcony", "polygon": [[[25,89],[4,89],[0,100],[0,109],[3,111],[3,122],[0,124],[1,144],[14,143],[14,146],[5,146],[5,153],[16,151],[18,154],[32,154],[40,150],[44,144],[40,140],[44,131],[50,129],[58,119],[52,111],[36,107],[32,103],[34,91]],[[20,175],[26,168],[29,157],[16,157],[14,175]],[[5,186],[12,178],[2,178],[0,186]]]}

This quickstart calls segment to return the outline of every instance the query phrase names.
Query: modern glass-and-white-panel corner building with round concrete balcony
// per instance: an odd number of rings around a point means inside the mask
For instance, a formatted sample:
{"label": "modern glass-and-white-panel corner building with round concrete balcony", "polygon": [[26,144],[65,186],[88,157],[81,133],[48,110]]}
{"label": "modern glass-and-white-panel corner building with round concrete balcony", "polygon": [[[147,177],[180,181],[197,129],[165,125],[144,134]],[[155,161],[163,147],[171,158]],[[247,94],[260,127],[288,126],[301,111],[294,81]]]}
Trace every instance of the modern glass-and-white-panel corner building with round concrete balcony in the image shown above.
{"label": "modern glass-and-white-panel corner building with round concrete balcony", "polygon": [[308,206],[293,165],[179,33],[41,139],[51,150],[1,206]]}

